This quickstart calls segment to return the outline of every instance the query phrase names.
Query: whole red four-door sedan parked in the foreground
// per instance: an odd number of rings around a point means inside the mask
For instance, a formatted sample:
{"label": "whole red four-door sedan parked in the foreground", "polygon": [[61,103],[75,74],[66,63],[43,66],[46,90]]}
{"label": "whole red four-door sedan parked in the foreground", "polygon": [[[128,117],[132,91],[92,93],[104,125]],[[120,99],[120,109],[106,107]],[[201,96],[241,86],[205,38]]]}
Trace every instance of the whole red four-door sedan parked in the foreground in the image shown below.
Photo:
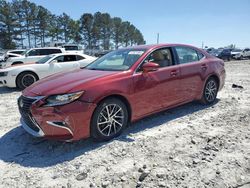
{"label": "whole red four-door sedan parked in the foreground", "polygon": [[110,140],[150,114],[213,103],[224,80],[224,62],[193,46],[119,49],[26,88],[18,99],[21,124],[36,137]]}

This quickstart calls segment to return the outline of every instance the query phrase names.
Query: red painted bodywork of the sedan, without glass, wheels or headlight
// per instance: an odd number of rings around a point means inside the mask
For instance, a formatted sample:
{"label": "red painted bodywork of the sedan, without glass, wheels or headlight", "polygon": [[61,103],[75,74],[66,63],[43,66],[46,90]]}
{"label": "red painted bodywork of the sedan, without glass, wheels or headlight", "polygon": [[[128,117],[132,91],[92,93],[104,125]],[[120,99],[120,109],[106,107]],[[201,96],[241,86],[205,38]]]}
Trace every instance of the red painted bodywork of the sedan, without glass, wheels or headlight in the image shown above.
{"label": "red painted bodywork of the sedan, without glass, wheels or headlight", "polygon": [[[57,107],[43,107],[41,99],[31,107],[31,114],[44,137],[79,140],[90,136],[90,122],[100,101],[118,96],[130,106],[131,121],[181,104],[200,100],[209,76],[216,76],[219,89],[224,85],[224,63],[206,52],[199,62],[178,64],[157,71],[135,73],[139,64],[155,49],[176,44],[143,46],[146,52],[128,71],[76,70],[49,76],[23,91],[27,97],[85,91],[77,101]],[[178,45],[186,46],[186,45]],[[190,46],[187,46],[190,47]],[[139,47],[133,47],[139,48]],[[140,46],[142,48],[142,46]],[[52,127],[47,121],[64,121],[69,130]]]}

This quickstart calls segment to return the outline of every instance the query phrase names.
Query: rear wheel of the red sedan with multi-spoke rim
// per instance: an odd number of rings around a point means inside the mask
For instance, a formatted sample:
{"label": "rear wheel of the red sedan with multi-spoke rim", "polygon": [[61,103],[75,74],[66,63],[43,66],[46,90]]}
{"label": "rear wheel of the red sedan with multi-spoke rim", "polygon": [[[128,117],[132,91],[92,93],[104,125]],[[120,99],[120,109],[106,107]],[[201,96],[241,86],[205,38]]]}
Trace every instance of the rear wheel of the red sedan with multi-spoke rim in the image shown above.
{"label": "rear wheel of the red sedan with multi-spoke rim", "polygon": [[216,100],[218,93],[218,82],[214,78],[209,78],[203,89],[201,102],[203,104],[212,104]]}

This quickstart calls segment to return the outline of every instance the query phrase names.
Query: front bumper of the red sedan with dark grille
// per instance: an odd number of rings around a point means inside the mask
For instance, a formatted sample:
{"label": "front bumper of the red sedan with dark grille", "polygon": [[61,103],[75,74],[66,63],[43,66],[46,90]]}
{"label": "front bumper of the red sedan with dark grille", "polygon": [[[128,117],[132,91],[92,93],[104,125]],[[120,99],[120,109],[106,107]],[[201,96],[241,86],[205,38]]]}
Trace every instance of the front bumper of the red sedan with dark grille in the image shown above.
{"label": "front bumper of the red sedan with dark grille", "polygon": [[27,101],[21,107],[20,99],[18,104],[22,116],[21,125],[31,135],[67,141],[90,136],[90,122],[95,104],[77,100],[63,106],[43,107],[43,97],[40,100],[29,99],[33,100],[28,101],[31,102],[29,107],[26,105]]}

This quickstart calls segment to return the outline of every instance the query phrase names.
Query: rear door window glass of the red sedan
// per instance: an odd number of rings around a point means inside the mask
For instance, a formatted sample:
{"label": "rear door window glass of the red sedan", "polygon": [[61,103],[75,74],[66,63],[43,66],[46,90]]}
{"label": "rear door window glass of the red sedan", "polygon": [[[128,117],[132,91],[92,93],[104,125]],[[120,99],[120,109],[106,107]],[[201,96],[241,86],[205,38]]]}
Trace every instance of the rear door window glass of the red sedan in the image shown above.
{"label": "rear door window glass of the red sedan", "polygon": [[175,49],[179,57],[180,64],[199,61],[198,54],[195,50],[188,47],[175,47]]}

